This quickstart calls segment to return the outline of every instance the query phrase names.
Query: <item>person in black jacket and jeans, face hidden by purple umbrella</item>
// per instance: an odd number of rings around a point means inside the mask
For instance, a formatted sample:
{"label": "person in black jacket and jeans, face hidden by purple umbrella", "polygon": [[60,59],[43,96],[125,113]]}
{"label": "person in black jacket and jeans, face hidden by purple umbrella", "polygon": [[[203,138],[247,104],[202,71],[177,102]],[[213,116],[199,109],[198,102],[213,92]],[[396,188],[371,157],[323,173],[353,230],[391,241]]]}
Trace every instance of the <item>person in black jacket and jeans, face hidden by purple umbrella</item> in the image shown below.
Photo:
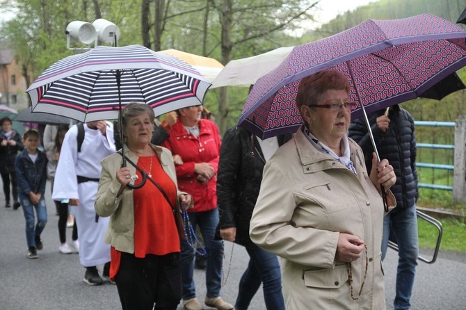
{"label": "person in black jacket and jeans, face hidden by purple umbrella", "polygon": [[280,264],[275,254],[262,250],[249,237],[249,222],[268,158],[291,135],[259,140],[246,129],[225,132],[218,164],[217,197],[220,237],[246,247],[248,268],[239,282],[234,309],[248,309],[252,297],[264,285],[266,309],[284,309]]}

